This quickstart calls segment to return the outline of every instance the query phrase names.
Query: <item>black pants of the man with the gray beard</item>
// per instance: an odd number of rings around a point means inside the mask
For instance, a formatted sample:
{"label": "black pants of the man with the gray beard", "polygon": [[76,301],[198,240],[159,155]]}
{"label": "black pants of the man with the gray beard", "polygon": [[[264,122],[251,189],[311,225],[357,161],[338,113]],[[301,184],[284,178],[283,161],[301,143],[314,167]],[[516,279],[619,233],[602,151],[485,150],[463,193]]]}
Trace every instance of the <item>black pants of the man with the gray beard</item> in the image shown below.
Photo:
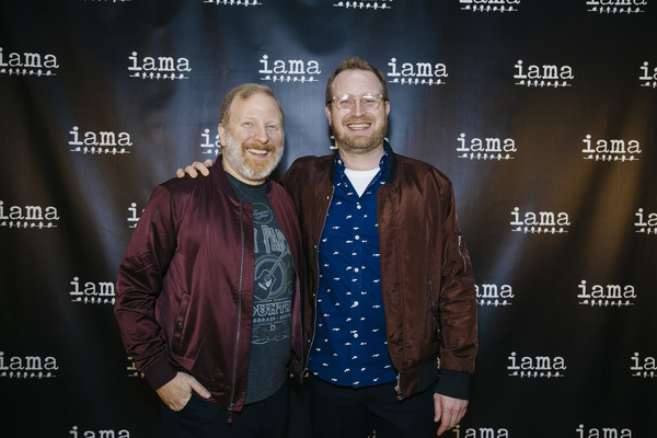
{"label": "black pants of the man with the gray beard", "polygon": [[193,394],[182,411],[162,403],[164,438],[283,438],[287,416],[288,382],[270,397],[247,404],[232,415]]}

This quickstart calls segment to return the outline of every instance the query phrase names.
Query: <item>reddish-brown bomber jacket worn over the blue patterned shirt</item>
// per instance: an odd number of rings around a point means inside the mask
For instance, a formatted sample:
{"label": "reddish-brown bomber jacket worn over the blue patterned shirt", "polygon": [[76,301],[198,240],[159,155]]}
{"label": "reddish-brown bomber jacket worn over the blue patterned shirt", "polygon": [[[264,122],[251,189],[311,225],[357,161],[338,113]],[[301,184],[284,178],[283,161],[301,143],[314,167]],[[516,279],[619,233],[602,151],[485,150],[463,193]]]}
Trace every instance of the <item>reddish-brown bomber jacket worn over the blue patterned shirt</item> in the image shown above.
{"label": "reddish-brown bomber jacket worn over the blue patterned shirt", "polygon": [[[307,263],[304,359],[314,335],[318,249],[333,196],[334,157],[300,158],[280,178],[297,205]],[[466,400],[479,348],[477,306],[451,182],[434,166],[390,150],[377,209],[388,349],[399,376],[397,395],[408,397],[428,388],[440,371],[436,392]]]}

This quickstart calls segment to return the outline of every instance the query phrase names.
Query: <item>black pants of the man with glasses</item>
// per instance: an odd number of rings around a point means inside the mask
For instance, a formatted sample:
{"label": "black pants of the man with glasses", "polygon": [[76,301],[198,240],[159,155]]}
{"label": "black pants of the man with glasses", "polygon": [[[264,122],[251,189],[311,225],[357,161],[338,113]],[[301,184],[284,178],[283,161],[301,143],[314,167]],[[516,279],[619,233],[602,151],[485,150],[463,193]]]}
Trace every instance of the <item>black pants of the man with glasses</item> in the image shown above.
{"label": "black pants of the man with glasses", "polygon": [[345,388],[308,378],[313,438],[429,438],[435,436],[434,388],[403,401],[395,382]]}

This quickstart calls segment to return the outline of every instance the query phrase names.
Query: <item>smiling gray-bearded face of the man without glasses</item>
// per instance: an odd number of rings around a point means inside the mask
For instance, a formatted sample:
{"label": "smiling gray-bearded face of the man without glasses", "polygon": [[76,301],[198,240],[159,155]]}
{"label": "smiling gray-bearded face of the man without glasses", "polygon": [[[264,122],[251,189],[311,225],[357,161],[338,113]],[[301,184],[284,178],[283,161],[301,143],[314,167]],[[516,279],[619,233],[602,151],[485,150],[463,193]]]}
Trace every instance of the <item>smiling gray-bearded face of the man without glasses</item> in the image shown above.
{"label": "smiling gray-bearded face of the man without glasses", "polygon": [[280,162],[283,115],[273,97],[257,93],[234,99],[228,124],[219,125],[223,169],[239,181],[257,185]]}

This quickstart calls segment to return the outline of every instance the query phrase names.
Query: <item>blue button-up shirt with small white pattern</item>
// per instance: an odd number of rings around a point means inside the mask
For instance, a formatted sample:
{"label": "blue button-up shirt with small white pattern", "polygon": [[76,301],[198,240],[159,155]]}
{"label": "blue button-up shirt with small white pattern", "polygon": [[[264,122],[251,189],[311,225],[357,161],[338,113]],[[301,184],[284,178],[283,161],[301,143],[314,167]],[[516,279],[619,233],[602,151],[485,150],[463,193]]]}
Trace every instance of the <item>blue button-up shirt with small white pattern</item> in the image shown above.
{"label": "blue button-up shirt with small white pattern", "polygon": [[389,151],[358,196],[336,155],[333,199],[320,241],[318,320],[309,369],[343,387],[396,380],[385,338],[381,296],[377,192],[385,183]]}

